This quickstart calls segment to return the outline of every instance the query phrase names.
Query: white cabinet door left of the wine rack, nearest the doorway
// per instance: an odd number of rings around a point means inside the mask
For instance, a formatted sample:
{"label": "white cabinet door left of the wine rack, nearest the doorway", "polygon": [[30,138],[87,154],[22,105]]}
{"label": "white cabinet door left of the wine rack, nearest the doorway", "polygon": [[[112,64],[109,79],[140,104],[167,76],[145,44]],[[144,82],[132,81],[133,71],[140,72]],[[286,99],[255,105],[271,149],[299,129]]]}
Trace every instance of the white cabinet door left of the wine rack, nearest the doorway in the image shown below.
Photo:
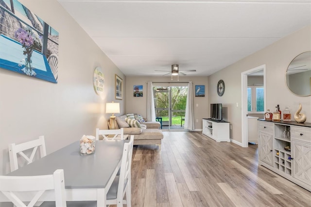
{"label": "white cabinet door left of the wine rack, nearest the doorway", "polygon": [[273,166],[273,136],[259,132],[259,159]]}

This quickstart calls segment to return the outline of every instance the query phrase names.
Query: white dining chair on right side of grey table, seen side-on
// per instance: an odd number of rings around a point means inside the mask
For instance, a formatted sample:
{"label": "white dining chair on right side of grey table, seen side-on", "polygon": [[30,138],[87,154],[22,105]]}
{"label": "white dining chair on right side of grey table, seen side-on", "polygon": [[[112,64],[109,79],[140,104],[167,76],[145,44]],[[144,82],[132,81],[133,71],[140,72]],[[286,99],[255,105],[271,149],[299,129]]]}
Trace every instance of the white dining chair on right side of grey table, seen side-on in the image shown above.
{"label": "white dining chair on right side of grey table, seen side-on", "polygon": [[[120,175],[117,175],[110,189],[107,192],[107,205],[131,207],[131,164],[133,154],[134,135],[131,135],[130,142],[124,143],[121,161]],[[123,200],[126,195],[126,200]]]}

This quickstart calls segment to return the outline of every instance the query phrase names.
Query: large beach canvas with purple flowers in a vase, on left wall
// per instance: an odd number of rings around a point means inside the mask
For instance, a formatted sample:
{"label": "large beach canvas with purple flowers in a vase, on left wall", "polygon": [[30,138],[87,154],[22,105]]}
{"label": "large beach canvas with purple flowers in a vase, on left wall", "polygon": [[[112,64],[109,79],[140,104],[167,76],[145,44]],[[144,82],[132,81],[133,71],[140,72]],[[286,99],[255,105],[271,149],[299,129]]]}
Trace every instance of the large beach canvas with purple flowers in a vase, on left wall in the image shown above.
{"label": "large beach canvas with purple flowers in a vase, on left wall", "polygon": [[57,83],[58,32],[17,0],[3,0],[0,19],[0,69]]}

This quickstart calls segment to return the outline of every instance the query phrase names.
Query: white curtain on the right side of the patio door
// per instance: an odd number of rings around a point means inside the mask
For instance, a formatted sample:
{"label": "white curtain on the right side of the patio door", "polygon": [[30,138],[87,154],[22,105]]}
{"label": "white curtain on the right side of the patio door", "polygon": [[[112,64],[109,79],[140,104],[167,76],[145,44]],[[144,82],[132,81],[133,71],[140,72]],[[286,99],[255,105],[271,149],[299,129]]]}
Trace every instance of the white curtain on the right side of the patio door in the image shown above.
{"label": "white curtain on the right side of the patio door", "polygon": [[193,90],[192,90],[192,81],[188,84],[188,95],[187,95],[187,104],[186,104],[186,114],[185,114],[185,125],[184,129],[194,130],[194,118],[193,118]]}

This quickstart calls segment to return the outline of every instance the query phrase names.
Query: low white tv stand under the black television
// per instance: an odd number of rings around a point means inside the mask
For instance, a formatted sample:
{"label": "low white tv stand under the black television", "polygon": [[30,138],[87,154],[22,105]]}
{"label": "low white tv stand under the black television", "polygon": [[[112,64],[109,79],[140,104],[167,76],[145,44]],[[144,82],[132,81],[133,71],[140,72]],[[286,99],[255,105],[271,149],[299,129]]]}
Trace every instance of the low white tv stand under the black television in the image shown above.
{"label": "low white tv stand under the black television", "polygon": [[203,119],[202,134],[217,142],[230,142],[229,122],[224,120]]}

